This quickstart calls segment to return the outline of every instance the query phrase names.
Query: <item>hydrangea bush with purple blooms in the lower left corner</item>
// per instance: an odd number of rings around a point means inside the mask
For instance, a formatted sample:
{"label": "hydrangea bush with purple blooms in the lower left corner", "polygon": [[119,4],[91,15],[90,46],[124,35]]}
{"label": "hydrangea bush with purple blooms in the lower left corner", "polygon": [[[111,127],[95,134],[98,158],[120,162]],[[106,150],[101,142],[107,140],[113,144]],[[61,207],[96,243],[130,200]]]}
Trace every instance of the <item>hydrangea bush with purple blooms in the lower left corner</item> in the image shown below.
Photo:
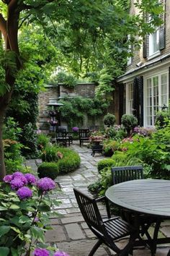
{"label": "hydrangea bush with purple blooms in the lower left corner", "polygon": [[0,255],[68,256],[45,245],[45,231],[51,229],[49,218],[58,200],[50,193],[55,182],[37,179],[19,171],[6,175],[0,184]]}

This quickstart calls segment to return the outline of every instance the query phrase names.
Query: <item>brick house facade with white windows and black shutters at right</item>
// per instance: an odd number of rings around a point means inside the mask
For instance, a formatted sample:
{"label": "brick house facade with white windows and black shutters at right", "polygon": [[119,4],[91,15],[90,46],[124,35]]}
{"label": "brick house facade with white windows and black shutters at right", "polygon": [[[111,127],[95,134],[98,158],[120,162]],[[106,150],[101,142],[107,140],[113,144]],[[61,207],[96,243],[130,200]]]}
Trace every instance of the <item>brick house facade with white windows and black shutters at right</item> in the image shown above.
{"label": "brick house facade with white windows and black shutters at right", "polygon": [[[161,27],[143,39],[143,47],[128,59],[125,74],[118,77],[119,100],[117,112],[134,114],[138,124],[154,125],[156,112],[169,106],[170,80],[170,1],[161,0],[165,12]],[[133,6],[131,13],[138,12]]]}

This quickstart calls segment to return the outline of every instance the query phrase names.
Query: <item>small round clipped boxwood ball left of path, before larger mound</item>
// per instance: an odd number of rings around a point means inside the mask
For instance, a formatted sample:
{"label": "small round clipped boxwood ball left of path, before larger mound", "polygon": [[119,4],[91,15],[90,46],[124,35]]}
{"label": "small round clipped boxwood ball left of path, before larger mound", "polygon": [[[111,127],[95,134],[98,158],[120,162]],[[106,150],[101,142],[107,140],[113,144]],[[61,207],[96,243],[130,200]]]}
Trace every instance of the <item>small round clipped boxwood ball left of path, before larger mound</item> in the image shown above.
{"label": "small round clipped boxwood ball left of path, before larger mound", "polygon": [[55,179],[59,174],[58,164],[54,162],[43,162],[38,166],[37,173],[39,178],[48,177]]}

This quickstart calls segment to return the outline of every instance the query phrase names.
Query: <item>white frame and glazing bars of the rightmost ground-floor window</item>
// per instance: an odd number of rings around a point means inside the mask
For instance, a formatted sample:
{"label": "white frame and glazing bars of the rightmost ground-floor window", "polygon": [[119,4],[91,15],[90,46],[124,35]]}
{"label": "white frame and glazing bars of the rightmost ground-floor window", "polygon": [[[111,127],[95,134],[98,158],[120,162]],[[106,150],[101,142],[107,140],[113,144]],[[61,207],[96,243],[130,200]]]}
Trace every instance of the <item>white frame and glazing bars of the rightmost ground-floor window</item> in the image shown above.
{"label": "white frame and glazing bars of the rightmost ground-floor window", "polygon": [[[166,90],[164,87],[164,91],[163,91],[163,85],[161,84],[161,76],[162,75],[166,75]],[[155,121],[155,114],[154,114],[154,93],[153,93],[153,77],[158,77],[158,104],[156,104],[157,109],[161,110],[161,106],[163,106],[163,104],[166,104],[166,106],[168,106],[169,104],[169,71],[163,70],[161,72],[157,72],[157,73],[153,73],[147,77],[145,77],[144,79],[144,106],[143,106],[143,114],[144,114],[144,127],[153,127],[154,126],[154,121]],[[147,81],[151,79],[151,119],[152,119],[152,124],[148,124],[147,118],[148,118],[148,112],[147,112],[147,108],[148,108],[148,103],[147,103],[147,99],[148,99],[148,95],[147,95]],[[165,92],[166,91],[166,92]],[[155,97],[156,98],[156,97]],[[164,101],[163,102],[163,98]],[[155,99],[156,101],[157,99]]]}

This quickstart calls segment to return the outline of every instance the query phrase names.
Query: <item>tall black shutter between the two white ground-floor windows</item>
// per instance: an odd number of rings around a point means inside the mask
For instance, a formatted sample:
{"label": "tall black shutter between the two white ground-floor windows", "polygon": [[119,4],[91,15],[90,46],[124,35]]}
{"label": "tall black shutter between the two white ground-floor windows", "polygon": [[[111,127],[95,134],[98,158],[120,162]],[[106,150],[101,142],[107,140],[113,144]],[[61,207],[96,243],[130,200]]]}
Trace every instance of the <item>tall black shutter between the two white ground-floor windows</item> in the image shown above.
{"label": "tall black shutter between the two white ground-floor windows", "polygon": [[133,115],[143,126],[143,77],[135,77],[133,82]]}

